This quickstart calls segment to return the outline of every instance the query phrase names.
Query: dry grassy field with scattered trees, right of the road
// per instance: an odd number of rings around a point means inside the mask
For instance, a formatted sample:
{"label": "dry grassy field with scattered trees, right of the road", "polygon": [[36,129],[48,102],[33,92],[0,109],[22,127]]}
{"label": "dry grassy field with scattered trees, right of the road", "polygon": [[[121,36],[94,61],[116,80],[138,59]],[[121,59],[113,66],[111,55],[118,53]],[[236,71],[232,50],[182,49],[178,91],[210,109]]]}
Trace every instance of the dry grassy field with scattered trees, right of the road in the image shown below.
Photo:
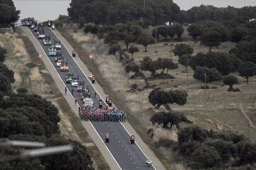
{"label": "dry grassy field with scattered trees, right of the road", "polygon": [[[151,30],[146,30],[151,33]],[[77,47],[78,54],[81,59],[87,64],[87,67],[96,74],[97,81],[114,99],[114,103],[119,109],[129,113],[129,122],[139,132],[144,142],[155,152],[166,166],[166,169],[186,169],[179,162],[176,153],[171,150],[163,148],[156,148],[154,142],[160,138],[168,138],[170,140],[177,140],[177,130],[162,130],[159,127],[152,126],[149,118],[154,111],[153,106],[148,102],[148,95],[152,89],[145,89],[144,91],[129,92],[132,84],[138,84],[139,88],[143,88],[144,81],[142,79],[130,79],[132,74],[127,74],[124,66],[119,62],[117,57],[107,54],[107,45],[97,37],[82,33],[73,27],[65,27],[60,29],[60,33],[73,45]],[[188,35],[184,35],[188,39]],[[142,45],[139,47],[139,52],[134,54],[134,59],[137,64],[143,57],[149,56],[153,60],[157,57],[171,57],[174,62],[178,62],[178,57],[174,56],[170,51],[174,49],[174,45],[181,42],[159,42],[157,43],[157,53],[154,52],[155,46],[149,45],[148,51],[143,52]],[[183,42],[191,45],[194,49],[194,55],[198,52],[208,52],[208,47],[199,45],[192,41]],[[228,52],[235,44],[225,42],[220,47],[213,48],[213,51]],[[125,48],[122,45],[122,48]],[[87,55],[92,54],[95,56],[95,62],[88,64]],[[95,72],[94,72],[95,71]],[[252,142],[256,142],[256,130],[247,126],[245,116],[239,111],[238,106],[243,104],[245,111],[250,113],[250,118],[255,119],[255,99],[256,99],[256,79],[250,79],[250,84],[245,84],[245,79],[239,77],[240,84],[235,84],[235,88],[239,88],[241,92],[227,92],[228,86],[223,86],[221,81],[208,84],[210,87],[217,89],[208,89],[206,91],[206,104],[204,98],[204,90],[201,89],[203,84],[196,79],[193,79],[193,70],[188,69],[188,81],[186,79],[185,68],[179,64],[178,69],[169,72],[174,79],[156,79],[151,80],[149,72],[144,72],[145,76],[149,79],[149,84],[164,89],[183,89],[188,92],[188,102],[184,106],[171,105],[175,111],[185,113],[187,117],[193,120],[193,123],[200,125],[203,128],[213,130],[233,130],[250,138]],[[234,73],[238,76],[238,73]],[[252,107],[253,106],[253,107]],[[164,108],[159,108],[158,111],[164,111]],[[158,112],[156,111],[156,112]],[[147,135],[147,130],[154,131],[154,137],[150,138]],[[249,130],[249,133],[248,133]]]}

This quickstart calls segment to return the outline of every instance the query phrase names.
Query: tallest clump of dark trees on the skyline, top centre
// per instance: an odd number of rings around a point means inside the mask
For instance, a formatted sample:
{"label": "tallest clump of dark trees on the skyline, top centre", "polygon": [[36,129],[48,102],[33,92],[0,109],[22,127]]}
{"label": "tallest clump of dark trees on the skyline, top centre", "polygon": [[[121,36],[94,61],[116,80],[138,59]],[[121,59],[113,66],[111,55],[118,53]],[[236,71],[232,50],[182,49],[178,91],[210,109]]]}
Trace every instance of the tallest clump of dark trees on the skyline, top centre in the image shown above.
{"label": "tallest clump of dark trees on the skyline, top centre", "polygon": [[148,0],[144,8],[143,1],[122,0],[73,0],[68,8],[71,20],[80,24],[95,23],[109,25],[127,23],[127,21],[141,21],[141,25],[159,25],[172,22],[178,15],[180,8],[169,0]]}

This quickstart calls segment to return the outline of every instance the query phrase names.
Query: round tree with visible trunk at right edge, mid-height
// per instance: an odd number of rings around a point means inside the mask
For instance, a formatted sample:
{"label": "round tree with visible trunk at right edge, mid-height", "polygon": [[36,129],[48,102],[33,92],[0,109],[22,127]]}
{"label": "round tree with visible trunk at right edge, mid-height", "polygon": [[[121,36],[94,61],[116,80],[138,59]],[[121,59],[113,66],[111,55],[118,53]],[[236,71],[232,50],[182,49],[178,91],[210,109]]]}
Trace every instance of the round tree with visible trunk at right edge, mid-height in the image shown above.
{"label": "round tree with visible trunk at right edge, mid-height", "polygon": [[241,77],[245,77],[246,83],[249,84],[249,77],[253,77],[256,74],[256,65],[252,62],[244,62],[240,64],[238,72]]}

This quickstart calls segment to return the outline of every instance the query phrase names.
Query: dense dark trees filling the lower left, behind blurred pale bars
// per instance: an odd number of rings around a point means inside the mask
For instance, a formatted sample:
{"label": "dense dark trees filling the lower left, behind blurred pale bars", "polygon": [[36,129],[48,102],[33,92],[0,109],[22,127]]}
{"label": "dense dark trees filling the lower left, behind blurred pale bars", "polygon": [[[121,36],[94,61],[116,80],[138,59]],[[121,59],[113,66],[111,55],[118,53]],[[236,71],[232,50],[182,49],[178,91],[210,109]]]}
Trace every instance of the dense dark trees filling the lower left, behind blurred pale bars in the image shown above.
{"label": "dense dark trees filling the lower left, behind blurred pale bars", "polygon": [[[79,142],[60,136],[58,109],[50,101],[26,89],[11,90],[14,72],[4,62],[6,50],[0,48],[0,142],[4,140],[28,140],[45,142],[47,146],[73,145],[73,152],[36,159],[1,163],[1,170],[55,170],[94,169],[86,147]],[[19,154],[21,149],[0,147],[2,157]]]}

